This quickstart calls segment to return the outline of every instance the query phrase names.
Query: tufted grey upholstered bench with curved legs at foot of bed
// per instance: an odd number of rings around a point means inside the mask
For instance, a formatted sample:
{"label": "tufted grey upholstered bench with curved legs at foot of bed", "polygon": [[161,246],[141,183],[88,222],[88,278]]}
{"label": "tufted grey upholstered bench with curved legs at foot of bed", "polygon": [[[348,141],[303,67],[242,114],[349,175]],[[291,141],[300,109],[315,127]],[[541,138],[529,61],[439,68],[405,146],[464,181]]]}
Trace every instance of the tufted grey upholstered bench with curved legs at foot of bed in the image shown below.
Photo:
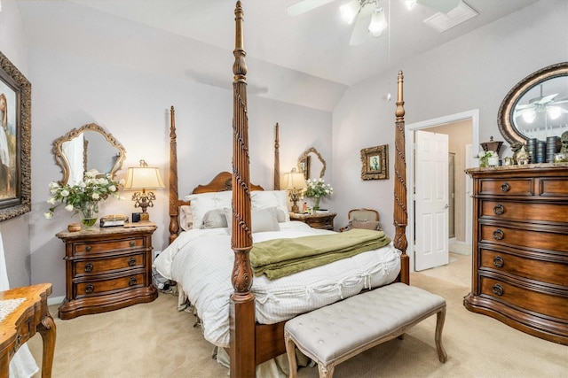
{"label": "tufted grey upholstered bench with curved legs at foot of bed", "polygon": [[335,365],[402,336],[434,313],[438,359],[446,362],[442,346],[446,300],[405,283],[383,286],[296,316],[284,326],[290,377],[296,377],[295,346],[318,363],[320,378],[331,378]]}

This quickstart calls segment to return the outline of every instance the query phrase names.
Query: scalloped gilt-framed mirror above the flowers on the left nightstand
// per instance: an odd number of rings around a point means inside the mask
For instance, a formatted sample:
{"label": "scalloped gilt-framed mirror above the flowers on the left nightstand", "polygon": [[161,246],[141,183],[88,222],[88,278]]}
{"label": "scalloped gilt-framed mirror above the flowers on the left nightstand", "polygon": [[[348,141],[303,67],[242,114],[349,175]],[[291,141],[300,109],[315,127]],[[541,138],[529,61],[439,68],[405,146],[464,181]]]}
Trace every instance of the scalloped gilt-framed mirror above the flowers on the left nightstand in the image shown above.
{"label": "scalloped gilt-framed mirror above the flowers on the left nightstand", "polygon": [[60,185],[82,181],[84,173],[91,169],[114,175],[126,158],[122,144],[94,123],[59,137],[53,141],[51,151],[63,174]]}

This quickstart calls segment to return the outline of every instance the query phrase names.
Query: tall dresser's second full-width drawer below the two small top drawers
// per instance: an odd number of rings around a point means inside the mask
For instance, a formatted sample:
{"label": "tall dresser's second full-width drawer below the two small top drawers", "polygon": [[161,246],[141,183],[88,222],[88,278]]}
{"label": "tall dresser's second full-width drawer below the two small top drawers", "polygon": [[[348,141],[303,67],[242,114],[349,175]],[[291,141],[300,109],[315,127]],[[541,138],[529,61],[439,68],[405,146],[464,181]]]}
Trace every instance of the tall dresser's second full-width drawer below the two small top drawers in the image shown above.
{"label": "tall dresser's second full-width drawer below the two small top drawers", "polygon": [[511,245],[519,248],[568,252],[568,234],[480,225],[480,243]]}

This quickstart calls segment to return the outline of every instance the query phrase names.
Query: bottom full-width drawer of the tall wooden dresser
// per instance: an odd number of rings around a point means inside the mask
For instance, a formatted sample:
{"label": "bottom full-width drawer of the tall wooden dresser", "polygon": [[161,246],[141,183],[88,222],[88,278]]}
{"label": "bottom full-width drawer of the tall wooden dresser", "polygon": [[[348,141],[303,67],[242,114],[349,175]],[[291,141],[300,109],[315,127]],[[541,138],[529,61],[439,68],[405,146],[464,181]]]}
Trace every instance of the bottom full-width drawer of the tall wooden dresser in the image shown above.
{"label": "bottom full-width drawer of the tall wooden dresser", "polygon": [[541,313],[553,318],[568,320],[568,292],[564,296],[547,294],[491,277],[480,277],[481,295],[493,297],[509,305]]}

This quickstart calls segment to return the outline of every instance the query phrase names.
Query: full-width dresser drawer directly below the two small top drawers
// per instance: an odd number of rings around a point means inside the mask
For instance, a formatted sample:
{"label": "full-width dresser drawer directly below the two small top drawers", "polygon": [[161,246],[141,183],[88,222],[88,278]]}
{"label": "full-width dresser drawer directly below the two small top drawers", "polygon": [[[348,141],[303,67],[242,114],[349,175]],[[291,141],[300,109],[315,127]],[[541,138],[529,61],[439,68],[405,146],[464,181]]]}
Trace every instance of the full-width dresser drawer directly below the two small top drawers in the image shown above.
{"label": "full-width dresser drawer directly below the two small top drawers", "polygon": [[564,222],[568,227],[568,204],[537,204],[486,199],[482,199],[480,202],[481,217],[525,222]]}

